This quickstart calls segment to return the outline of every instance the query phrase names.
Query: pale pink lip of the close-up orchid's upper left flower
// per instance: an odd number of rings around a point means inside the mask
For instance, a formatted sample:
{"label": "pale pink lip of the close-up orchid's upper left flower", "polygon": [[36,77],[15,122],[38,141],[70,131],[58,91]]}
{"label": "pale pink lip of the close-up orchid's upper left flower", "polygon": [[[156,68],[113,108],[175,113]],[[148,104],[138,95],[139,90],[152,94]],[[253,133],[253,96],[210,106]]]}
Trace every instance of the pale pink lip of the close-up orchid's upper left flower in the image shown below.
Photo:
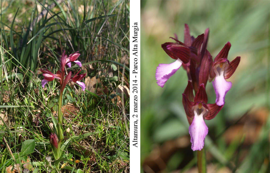
{"label": "pale pink lip of the close-up orchid's upper left flower", "polygon": [[156,70],[158,86],[163,87],[167,80],[181,67],[182,61],[178,58],[171,64],[159,64]]}

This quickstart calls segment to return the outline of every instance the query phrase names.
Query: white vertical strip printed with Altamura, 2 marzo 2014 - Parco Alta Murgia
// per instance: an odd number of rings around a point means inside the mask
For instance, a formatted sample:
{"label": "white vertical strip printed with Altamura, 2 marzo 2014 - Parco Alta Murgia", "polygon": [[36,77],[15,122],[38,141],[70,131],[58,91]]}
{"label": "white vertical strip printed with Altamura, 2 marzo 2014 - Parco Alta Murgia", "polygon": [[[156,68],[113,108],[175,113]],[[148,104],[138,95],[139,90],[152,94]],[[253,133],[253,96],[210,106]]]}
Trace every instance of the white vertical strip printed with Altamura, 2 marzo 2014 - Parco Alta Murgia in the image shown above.
{"label": "white vertical strip printed with Altamura, 2 marzo 2014 - Parco Alta Murgia", "polygon": [[[137,43],[133,42],[133,36],[134,36],[134,23],[137,22],[137,27],[139,28]],[[130,173],[139,173],[141,168],[140,163],[140,1],[138,0],[130,0]],[[138,46],[138,53],[137,56],[135,56],[133,53],[134,45],[137,44]],[[135,61],[137,58],[137,61]],[[137,62],[137,64],[136,64]],[[135,63],[135,64],[134,64]],[[138,70],[136,70],[137,73],[133,73],[134,67],[138,66]],[[137,80],[137,93],[133,89],[133,80]],[[134,105],[136,102],[136,99],[134,100],[134,97],[137,95],[137,105],[138,105],[138,112],[134,112]],[[136,116],[133,115],[137,114]],[[137,121],[137,147],[133,144],[136,142],[133,142],[134,140],[134,122]],[[136,134],[136,132],[135,132]]]}

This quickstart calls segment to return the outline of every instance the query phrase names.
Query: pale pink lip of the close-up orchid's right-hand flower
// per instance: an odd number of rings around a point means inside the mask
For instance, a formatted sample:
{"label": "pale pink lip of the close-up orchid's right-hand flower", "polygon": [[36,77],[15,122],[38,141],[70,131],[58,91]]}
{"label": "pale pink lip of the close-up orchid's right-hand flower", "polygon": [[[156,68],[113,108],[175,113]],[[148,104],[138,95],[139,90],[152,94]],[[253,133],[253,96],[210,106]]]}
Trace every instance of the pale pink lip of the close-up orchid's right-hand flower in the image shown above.
{"label": "pale pink lip of the close-up orchid's right-hand flower", "polygon": [[216,103],[218,106],[225,104],[225,95],[231,89],[232,83],[227,82],[222,75],[216,75],[215,80],[212,81],[216,93]]}

